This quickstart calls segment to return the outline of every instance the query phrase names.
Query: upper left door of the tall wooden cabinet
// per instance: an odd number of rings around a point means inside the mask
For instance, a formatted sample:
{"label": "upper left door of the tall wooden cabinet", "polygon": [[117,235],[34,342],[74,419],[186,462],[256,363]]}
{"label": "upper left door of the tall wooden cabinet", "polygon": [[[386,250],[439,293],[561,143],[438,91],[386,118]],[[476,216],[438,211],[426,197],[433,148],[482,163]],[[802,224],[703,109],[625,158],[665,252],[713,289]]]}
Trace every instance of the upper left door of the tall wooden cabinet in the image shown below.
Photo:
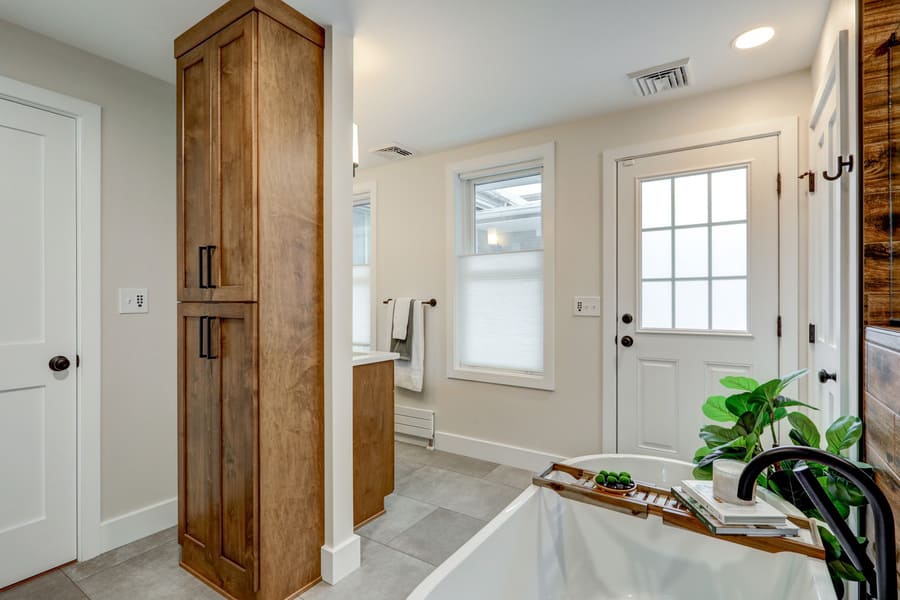
{"label": "upper left door of the tall wooden cabinet", "polygon": [[204,270],[213,244],[212,104],[207,44],[178,59],[178,299],[209,298]]}

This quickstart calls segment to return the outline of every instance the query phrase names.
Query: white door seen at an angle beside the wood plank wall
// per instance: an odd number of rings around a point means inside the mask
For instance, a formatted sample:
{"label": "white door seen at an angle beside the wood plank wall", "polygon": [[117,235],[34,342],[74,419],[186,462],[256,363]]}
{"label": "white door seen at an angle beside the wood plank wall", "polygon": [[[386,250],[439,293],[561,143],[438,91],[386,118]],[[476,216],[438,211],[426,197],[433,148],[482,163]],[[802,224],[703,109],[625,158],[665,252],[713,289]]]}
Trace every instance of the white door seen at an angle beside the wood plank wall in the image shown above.
{"label": "white door seen at an angle beside the wood plank wall", "polygon": [[847,157],[846,32],[835,46],[813,103],[809,164],[815,191],[809,192],[809,398],[819,408],[820,429],[852,414],[849,405],[851,293],[848,279],[850,177],[828,181],[838,156]]}

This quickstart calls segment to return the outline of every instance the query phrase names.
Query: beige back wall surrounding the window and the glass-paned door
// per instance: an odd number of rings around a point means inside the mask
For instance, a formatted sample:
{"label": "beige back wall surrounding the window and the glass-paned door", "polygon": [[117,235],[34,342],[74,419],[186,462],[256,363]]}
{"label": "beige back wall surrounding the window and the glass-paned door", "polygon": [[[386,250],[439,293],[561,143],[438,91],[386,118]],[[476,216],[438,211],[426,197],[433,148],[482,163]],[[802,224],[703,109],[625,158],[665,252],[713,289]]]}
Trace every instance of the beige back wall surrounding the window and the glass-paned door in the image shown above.
{"label": "beige back wall surrounding the window and the glass-paned door", "polygon": [[[600,449],[600,321],[572,317],[572,297],[600,295],[600,154],[605,149],[784,116],[805,124],[808,72],[528,131],[360,171],[377,183],[376,298],[446,298],[444,256],[449,163],[556,141],[556,390],[446,377],[446,314],[426,309],[425,389],[397,402],[436,411],[438,431],[573,456]],[[436,117],[438,118],[438,117]],[[800,170],[805,170],[805,151]],[[785,173],[788,185],[795,174]],[[379,332],[386,319],[379,317]]]}

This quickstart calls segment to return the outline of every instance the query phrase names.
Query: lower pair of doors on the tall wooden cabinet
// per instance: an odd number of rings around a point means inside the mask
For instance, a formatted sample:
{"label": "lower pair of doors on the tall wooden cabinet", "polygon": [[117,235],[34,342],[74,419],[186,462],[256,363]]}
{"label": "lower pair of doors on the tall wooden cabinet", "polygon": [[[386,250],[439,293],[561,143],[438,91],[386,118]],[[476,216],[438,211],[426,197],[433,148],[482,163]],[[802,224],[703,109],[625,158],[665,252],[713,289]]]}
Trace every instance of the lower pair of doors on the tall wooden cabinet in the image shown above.
{"label": "lower pair of doors on the tall wooden cabinet", "polygon": [[182,563],[243,598],[259,586],[253,304],[179,305]]}

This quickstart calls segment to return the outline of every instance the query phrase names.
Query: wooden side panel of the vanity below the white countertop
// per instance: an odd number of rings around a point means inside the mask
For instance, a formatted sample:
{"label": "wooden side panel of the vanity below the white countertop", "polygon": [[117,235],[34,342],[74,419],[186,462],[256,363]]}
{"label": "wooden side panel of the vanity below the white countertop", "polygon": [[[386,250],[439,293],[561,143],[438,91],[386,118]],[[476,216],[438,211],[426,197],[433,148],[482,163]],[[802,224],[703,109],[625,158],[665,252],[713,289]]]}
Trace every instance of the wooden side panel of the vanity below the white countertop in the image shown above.
{"label": "wooden side panel of the vanity below the white countertop", "polygon": [[384,512],[394,491],[394,361],[353,367],[353,524]]}

